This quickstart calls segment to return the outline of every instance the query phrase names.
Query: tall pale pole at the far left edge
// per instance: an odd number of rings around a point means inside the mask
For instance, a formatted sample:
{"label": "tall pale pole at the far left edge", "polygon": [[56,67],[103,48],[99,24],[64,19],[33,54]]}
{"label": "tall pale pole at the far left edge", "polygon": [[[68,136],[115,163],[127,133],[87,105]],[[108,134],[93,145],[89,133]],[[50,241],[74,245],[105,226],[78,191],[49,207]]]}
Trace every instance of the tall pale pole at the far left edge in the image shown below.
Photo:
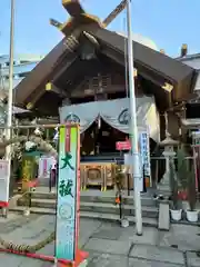
{"label": "tall pale pole at the far left edge", "polygon": [[[9,91],[8,91],[8,110],[7,110],[7,135],[6,138],[11,138],[11,126],[12,126],[12,90],[13,90],[13,34],[14,34],[14,3],[16,0],[11,0],[11,17],[10,17],[10,61],[9,61]],[[10,187],[11,176],[11,146],[6,148],[6,160],[9,162],[8,167],[8,194]]]}

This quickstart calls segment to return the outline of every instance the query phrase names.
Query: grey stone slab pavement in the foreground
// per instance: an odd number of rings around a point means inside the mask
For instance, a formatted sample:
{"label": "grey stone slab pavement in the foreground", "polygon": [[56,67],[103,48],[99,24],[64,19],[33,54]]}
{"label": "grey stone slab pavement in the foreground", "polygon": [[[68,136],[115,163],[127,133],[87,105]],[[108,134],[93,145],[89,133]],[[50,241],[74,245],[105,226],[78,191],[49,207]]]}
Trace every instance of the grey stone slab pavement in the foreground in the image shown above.
{"label": "grey stone slab pavement in the foreground", "polygon": [[[10,214],[0,218],[0,236],[14,243],[34,244],[53,230],[53,216],[31,215],[29,218]],[[89,251],[89,267],[200,267],[200,229],[172,225],[170,231],[144,227],[143,236],[134,227],[81,219],[79,246]],[[39,253],[54,254],[54,243]],[[51,267],[50,263],[0,254],[0,267]]]}

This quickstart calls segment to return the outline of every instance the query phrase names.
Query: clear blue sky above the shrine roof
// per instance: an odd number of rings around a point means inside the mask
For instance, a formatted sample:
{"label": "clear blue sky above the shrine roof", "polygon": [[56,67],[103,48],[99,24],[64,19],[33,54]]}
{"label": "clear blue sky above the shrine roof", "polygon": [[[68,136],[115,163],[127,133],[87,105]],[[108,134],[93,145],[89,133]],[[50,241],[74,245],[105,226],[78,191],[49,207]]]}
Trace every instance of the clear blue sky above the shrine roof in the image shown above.
{"label": "clear blue sky above the shrine roof", "polygon": [[[10,0],[0,0],[0,53],[9,52]],[[82,0],[88,12],[100,18],[120,0]],[[188,43],[189,52],[200,52],[200,0],[132,0],[132,29],[152,39],[170,56],[178,56],[181,43]],[[109,29],[124,31],[121,13]],[[47,53],[62,38],[49,24],[49,18],[66,21],[68,14],[61,0],[16,0],[16,53]]]}

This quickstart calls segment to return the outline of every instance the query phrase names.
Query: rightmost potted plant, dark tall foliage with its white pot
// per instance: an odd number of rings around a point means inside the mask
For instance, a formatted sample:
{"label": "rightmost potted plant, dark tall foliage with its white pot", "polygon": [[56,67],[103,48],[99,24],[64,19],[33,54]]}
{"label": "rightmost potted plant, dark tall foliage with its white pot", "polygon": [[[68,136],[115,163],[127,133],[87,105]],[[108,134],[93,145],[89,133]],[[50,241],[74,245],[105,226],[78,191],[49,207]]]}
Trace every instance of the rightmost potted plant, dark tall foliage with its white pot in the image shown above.
{"label": "rightmost potted plant, dark tall foliage with its white pot", "polygon": [[193,168],[188,175],[188,202],[189,209],[186,210],[187,219],[191,222],[198,221],[198,210],[196,209],[197,192],[196,192],[196,176]]}

